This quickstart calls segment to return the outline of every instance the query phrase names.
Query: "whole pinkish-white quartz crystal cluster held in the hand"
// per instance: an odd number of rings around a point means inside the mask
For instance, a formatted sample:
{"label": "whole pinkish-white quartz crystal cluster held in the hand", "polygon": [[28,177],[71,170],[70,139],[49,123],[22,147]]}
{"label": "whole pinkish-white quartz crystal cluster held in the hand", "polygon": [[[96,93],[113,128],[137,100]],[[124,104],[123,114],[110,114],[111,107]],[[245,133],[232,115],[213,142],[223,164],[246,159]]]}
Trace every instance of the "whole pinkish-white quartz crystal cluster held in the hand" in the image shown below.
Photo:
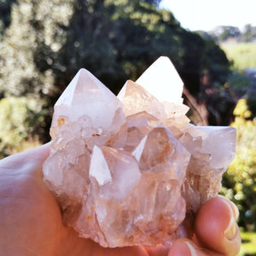
{"label": "whole pinkish-white quartz crystal cluster held in the hand", "polygon": [[160,57],[116,97],[85,69],[55,103],[44,181],[63,221],[102,247],[189,236],[235,154],[232,127],[189,124],[183,82]]}

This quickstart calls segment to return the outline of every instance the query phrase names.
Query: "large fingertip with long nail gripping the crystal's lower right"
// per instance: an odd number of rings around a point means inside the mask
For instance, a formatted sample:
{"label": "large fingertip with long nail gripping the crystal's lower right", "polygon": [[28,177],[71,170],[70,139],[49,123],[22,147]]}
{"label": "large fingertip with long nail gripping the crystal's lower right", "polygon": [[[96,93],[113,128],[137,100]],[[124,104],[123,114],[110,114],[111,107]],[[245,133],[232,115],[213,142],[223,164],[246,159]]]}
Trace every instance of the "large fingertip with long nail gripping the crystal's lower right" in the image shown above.
{"label": "large fingertip with long nail gripping the crystal's lower right", "polygon": [[218,253],[236,255],[241,246],[236,218],[236,207],[226,198],[218,196],[207,201],[195,219],[198,241]]}

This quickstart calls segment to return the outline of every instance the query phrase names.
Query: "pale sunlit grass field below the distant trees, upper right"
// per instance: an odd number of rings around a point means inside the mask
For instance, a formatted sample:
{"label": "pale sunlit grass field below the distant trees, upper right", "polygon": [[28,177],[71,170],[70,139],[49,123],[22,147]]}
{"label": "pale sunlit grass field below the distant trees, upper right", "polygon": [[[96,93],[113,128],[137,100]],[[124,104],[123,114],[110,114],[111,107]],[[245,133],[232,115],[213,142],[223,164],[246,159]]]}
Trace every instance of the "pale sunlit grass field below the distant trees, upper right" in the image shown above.
{"label": "pale sunlit grass field below the distant trees, upper right", "polygon": [[244,69],[247,67],[256,67],[256,42],[236,43],[225,42],[220,45],[230,59],[234,61],[234,67]]}

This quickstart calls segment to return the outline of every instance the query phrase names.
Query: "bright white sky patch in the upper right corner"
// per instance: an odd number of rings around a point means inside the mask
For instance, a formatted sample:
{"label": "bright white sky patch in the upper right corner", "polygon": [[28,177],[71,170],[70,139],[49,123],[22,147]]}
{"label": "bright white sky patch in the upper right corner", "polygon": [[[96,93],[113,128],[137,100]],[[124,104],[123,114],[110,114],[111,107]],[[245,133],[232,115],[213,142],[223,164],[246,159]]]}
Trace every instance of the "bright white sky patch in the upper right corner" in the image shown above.
{"label": "bright white sky patch in the upper right corner", "polygon": [[162,0],[181,26],[211,31],[216,26],[256,26],[256,0]]}

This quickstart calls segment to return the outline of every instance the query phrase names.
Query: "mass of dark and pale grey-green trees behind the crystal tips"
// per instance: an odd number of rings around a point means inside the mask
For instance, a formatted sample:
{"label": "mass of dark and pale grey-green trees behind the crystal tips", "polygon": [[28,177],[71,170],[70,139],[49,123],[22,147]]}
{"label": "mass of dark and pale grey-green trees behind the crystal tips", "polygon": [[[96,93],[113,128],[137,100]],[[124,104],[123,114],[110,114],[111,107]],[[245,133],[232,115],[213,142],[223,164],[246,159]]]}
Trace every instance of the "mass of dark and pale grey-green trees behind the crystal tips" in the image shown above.
{"label": "mass of dark and pale grey-green trees behind the crystal tips", "polygon": [[193,93],[204,69],[222,84],[230,72],[223,51],[184,30],[157,2],[17,0],[0,41],[0,95],[45,102],[46,141],[53,105],[81,67],[117,93],[167,55]]}

